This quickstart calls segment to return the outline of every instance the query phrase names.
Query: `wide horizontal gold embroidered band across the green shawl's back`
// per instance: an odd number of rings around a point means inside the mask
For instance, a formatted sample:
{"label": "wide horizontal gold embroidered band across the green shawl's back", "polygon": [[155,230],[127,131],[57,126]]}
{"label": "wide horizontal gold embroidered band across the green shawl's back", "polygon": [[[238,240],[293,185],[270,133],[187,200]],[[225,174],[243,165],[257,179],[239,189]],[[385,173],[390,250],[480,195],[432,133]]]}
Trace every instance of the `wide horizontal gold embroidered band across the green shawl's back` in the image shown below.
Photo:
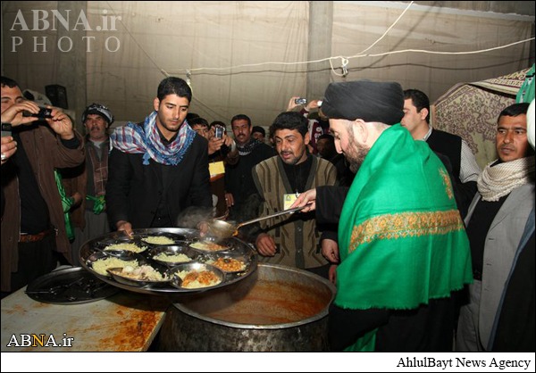
{"label": "wide horizontal gold embroidered band across the green shawl's back", "polygon": [[348,252],[373,240],[445,235],[464,229],[457,210],[433,212],[402,212],[376,216],[354,227]]}

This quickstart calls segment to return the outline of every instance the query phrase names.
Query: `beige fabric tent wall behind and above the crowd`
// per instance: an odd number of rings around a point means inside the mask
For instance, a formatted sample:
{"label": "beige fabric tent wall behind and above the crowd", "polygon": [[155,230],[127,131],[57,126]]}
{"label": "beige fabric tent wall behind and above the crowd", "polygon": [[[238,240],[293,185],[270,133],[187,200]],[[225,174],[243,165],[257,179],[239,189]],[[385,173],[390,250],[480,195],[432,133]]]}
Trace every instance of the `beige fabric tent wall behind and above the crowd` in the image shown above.
{"label": "beige fabric tent wall behind and above the crowd", "polygon": [[[292,95],[321,98],[331,81],[395,80],[434,101],[458,82],[529,66],[533,40],[484,54],[393,53],[471,52],[533,35],[533,16],[412,4],[382,37],[408,4],[3,2],[2,70],[24,88],[67,87],[79,118],[86,104],[106,104],[118,123],[143,120],[166,75],[188,76],[191,112],[227,123],[245,113],[255,125],[268,126]],[[52,10],[63,16],[71,10],[69,28],[56,21],[55,30],[42,22],[33,30],[37,10],[48,12],[51,24]],[[80,22],[75,28],[80,11],[90,29]],[[20,14],[28,30],[21,29]],[[71,50],[63,52],[70,41]],[[344,60],[330,63],[330,56],[348,59],[345,77]]]}

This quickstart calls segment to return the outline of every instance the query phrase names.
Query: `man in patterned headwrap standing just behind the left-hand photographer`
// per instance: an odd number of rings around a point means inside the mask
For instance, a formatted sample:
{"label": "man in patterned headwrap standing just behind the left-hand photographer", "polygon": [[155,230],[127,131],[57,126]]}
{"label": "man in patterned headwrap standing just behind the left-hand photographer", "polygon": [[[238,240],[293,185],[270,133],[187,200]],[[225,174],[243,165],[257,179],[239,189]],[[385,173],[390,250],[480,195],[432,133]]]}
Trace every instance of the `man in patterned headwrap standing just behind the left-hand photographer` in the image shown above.
{"label": "man in patterned headwrap standing just behind the left-hand photographer", "polygon": [[105,191],[108,181],[108,128],[113,114],[103,104],[90,104],[82,112],[86,128],[86,162],[79,167],[62,170],[65,194],[71,197],[71,221],[74,240],[71,242],[72,262],[78,264],[80,247],[96,236],[110,231],[105,211]]}

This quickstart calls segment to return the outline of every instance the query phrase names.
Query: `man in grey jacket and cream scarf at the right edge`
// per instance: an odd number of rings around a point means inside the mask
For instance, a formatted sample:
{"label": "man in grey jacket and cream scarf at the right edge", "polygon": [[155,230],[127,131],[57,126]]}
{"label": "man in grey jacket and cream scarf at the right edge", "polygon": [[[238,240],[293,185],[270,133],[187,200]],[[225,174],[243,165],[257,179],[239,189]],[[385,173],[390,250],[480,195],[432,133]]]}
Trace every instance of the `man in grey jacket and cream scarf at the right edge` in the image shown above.
{"label": "man in grey jacket and cream scarf at the right edge", "polygon": [[462,307],[456,350],[487,351],[501,295],[534,206],[534,150],[527,139],[529,104],[513,104],[498,116],[498,160],[478,178],[478,193],[465,224],[471,244],[473,284]]}

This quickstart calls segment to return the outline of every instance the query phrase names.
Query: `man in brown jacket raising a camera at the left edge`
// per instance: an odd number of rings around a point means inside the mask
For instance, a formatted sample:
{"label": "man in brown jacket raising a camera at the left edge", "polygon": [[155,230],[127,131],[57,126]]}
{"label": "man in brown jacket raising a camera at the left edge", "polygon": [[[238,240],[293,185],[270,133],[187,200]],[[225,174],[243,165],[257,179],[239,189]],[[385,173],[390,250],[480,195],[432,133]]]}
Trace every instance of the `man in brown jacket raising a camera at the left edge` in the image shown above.
{"label": "man in brown jacket raising a camera at the left edge", "polygon": [[[2,167],[5,195],[2,216],[2,296],[56,267],[62,253],[71,261],[55,168],[84,162],[82,137],[71,119],[52,109],[38,117],[38,105],[26,101],[18,84],[2,77],[2,122],[11,122],[17,153]],[[23,117],[23,112],[31,116]],[[4,127],[4,126],[3,126]]]}

